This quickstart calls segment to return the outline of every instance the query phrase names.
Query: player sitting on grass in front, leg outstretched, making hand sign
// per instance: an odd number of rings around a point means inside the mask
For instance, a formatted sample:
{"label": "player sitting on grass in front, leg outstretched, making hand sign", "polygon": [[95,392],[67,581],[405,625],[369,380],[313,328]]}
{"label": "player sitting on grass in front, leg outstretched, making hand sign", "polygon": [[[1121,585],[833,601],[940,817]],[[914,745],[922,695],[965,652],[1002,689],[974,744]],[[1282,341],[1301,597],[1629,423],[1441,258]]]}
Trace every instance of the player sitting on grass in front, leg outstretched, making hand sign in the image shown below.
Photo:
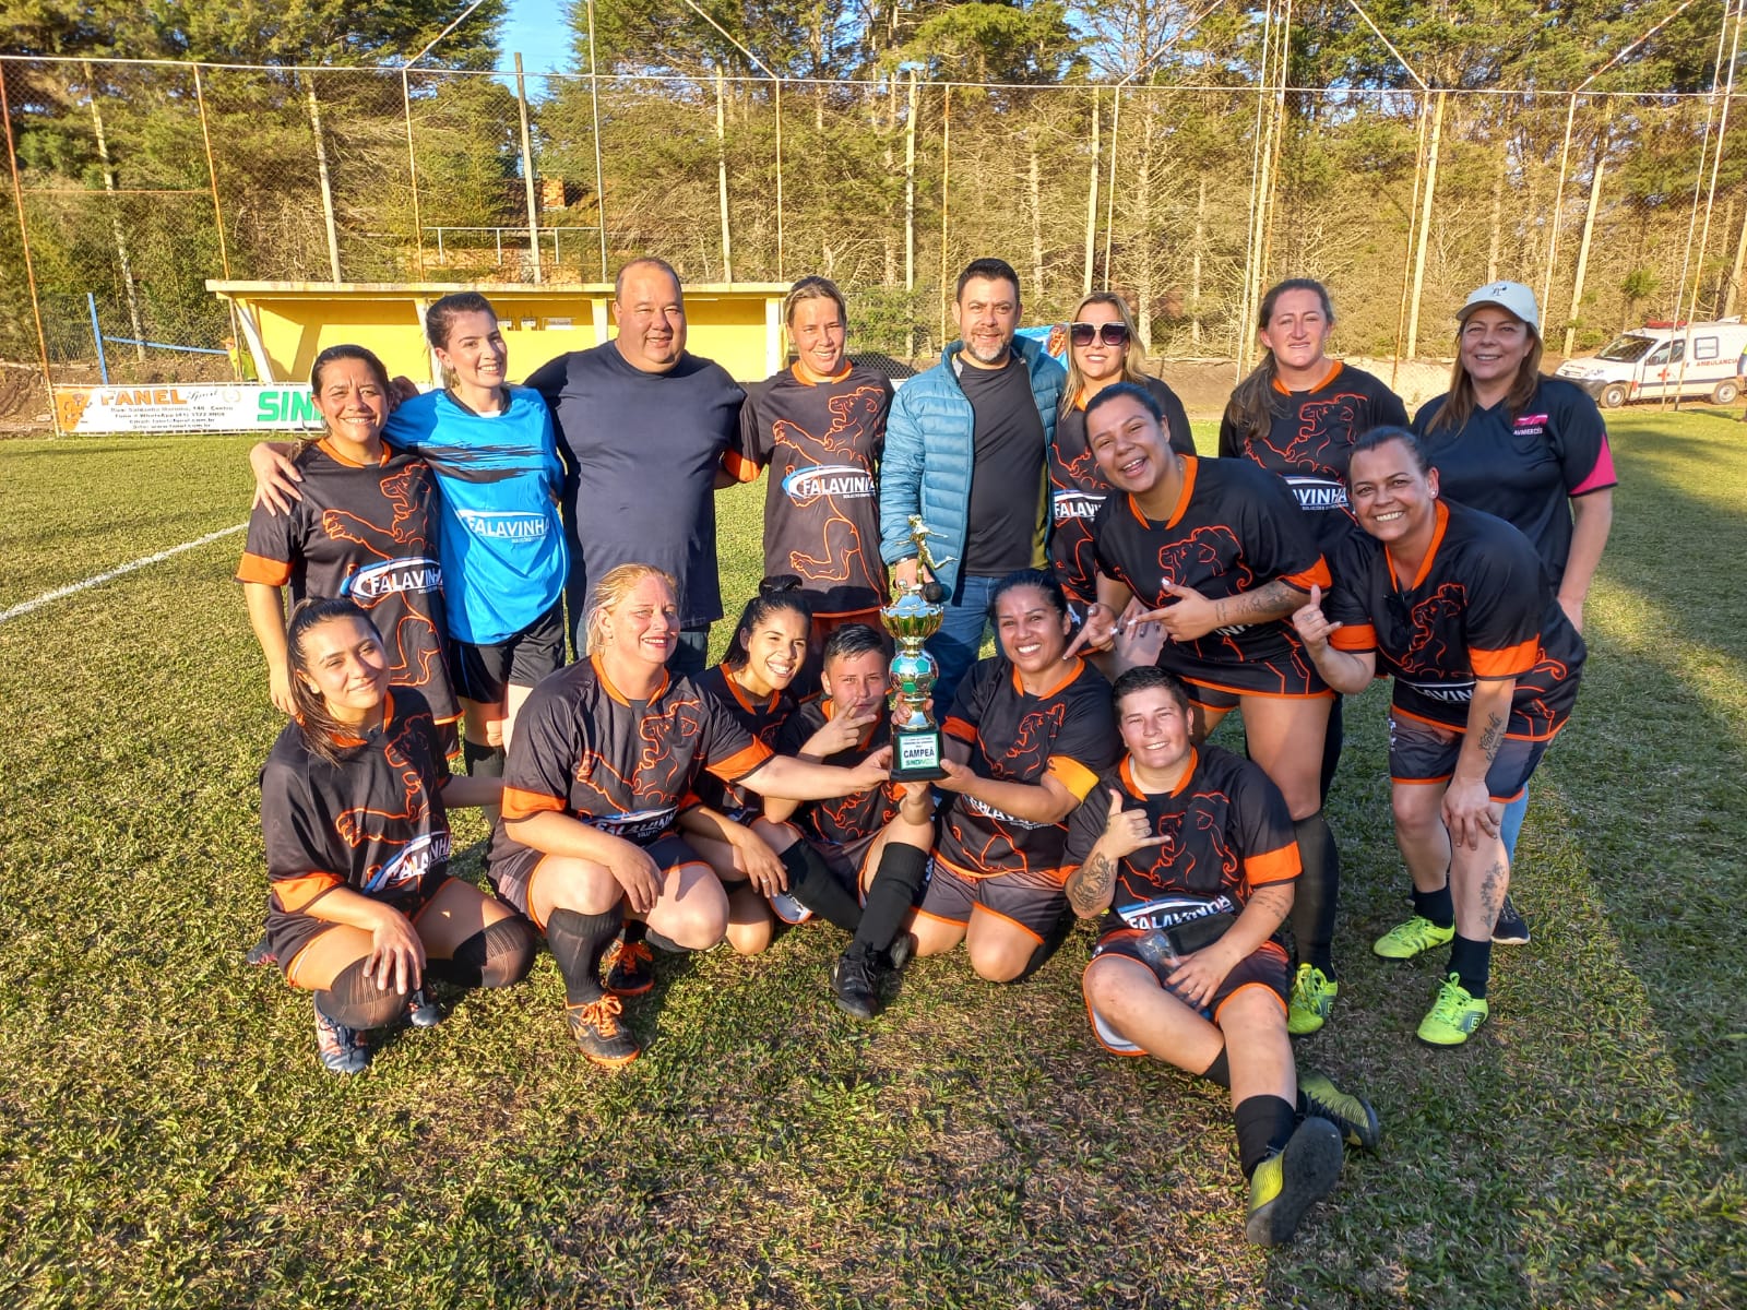
{"label": "player sitting on grass in front, leg outstretched, making hand sign", "polygon": [[1293,1067],[1275,940],[1300,873],[1291,812],[1258,765],[1195,748],[1190,695],[1164,669],[1130,669],[1113,699],[1127,755],[1067,824],[1067,900],[1101,917],[1092,1029],[1230,1090],[1249,1240],[1275,1245],[1335,1186],[1343,1135],[1378,1144],[1364,1100]]}

